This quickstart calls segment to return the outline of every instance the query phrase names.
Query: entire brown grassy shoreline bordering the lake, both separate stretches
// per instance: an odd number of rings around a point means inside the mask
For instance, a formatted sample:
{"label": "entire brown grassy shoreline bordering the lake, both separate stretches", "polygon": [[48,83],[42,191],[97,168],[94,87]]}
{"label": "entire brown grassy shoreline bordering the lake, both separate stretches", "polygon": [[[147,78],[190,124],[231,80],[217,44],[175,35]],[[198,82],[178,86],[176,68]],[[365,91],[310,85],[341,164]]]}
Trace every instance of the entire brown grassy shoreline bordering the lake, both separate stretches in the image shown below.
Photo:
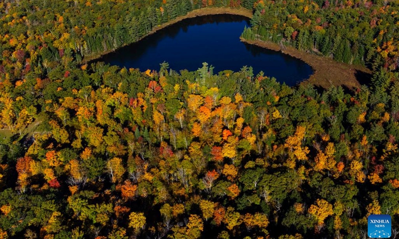
{"label": "entire brown grassy shoreline bordering the lake, both separate stretches", "polygon": [[[166,22],[160,26],[154,27],[148,34],[144,35],[140,39],[138,39],[135,42],[141,41],[145,39],[146,37],[155,34],[157,31],[164,29],[170,25],[173,25],[175,23],[178,23],[180,21],[183,21],[185,19],[189,18],[195,18],[198,16],[206,16],[206,15],[219,15],[219,14],[232,14],[232,15],[240,15],[240,16],[245,16],[248,18],[252,18],[252,11],[240,7],[240,8],[231,8],[231,7],[205,7],[205,8],[199,8],[195,9],[193,11],[190,11],[184,16],[179,16],[169,22]],[[300,59],[306,64],[308,64],[312,70],[313,74],[309,76],[308,79],[303,80],[300,84],[306,84],[310,83],[315,86],[328,89],[330,86],[345,86],[348,89],[354,89],[357,87],[360,87],[363,85],[365,82],[363,82],[364,79],[358,79],[358,78],[369,78],[371,75],[371,70],[366,68],[365,66],[361,65],[350,65],[342,62],[337,62],[333,60],[332,58],[324,57],[324,56],[318,56],[313,53],[305,52],[305,51],[300,51],[292,46],[285,46],[284,51],[281,51],[281,47],[279,44],[271,42],[271,41],[262,41],[262,40],[247,40],[243,39],[240,37],[240,41],[250,44],[250,45],[255,45],[258,47],[266,48],[269,50],[273,51],[278,51],[282,52],[283,54],[292,56],[294,58]],[[135,43],[132,42],[132,43]],[[122,48],[124,46],[130,45],[129,44],[124,44],[120,46],[119,48]],[[119,49],[117,48],[117,49]],[[102,56],[111,53],[117,49],[112,49],[108,51],[104,51],[99,54],[95,55],[90,55],[87,57],[84,57],[82,60],[83,64],[87,64],[90,61],[96,60],[101,58]],[[266,73],[267,74],[267,73]],[[358,77],[357,77],[358,75]],[[360,80],[360,81],[359,81]]]}

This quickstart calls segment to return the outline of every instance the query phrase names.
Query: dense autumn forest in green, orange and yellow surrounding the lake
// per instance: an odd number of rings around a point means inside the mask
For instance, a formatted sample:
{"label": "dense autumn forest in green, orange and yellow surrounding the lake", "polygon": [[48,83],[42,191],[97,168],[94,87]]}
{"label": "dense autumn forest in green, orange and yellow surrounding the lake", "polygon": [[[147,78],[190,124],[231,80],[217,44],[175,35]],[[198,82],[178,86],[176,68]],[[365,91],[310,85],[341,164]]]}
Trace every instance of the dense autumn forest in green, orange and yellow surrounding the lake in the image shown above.
{"label": "dense autumn forest in green, orange and yellow surrounding the lake", "polygon": [[[372,69],[359,88],[91,62],[209,7]],[[3,0],[0,239],[399,238],[399,2]],[[177,71],[179,70],[179,71]]]}

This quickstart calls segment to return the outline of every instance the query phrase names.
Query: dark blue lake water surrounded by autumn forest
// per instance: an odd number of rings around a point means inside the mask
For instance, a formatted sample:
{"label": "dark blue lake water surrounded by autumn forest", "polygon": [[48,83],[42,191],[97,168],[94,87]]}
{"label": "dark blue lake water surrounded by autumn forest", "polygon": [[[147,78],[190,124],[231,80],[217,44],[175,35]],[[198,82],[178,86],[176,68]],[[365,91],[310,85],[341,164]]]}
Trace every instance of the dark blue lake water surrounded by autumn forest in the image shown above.
{"label": "dark blue lake water surrounded by autumn forest", "polygon": [[236,15],[212,15],[186,19],[164,28],[143,40],[103,56],[102,60],[126,68],[159,70],[166,61],[174,70],[198,70],[202,62],[214,66],[214,72],[239,71],[252,66],[256,75],[266,76],[293,86],[313,74],[305,62],[239,40],[248,18]]}

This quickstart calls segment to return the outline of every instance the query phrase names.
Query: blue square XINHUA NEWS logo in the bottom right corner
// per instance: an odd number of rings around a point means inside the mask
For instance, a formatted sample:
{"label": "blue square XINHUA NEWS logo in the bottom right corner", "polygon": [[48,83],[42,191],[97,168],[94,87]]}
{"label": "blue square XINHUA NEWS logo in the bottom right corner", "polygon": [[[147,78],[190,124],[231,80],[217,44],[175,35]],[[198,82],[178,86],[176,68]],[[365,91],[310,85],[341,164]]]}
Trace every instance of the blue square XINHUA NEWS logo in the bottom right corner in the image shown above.
{"label": "blue square XINHUA NEWS logo in the bottom right corner", "polygon": [[391,237],[391,216],[390,215],[370,215],[367,219],[368,234],[370,238],[390,238]]}

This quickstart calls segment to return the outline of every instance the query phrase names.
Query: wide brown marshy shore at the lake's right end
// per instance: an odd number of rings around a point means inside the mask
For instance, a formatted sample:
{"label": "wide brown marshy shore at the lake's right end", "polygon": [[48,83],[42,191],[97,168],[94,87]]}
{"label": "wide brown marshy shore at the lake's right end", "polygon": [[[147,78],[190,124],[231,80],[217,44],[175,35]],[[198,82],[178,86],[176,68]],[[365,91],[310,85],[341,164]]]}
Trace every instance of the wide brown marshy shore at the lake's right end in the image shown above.
{"label": "wide brown marshy shore at the lake's right end", "polygon": [[[279,44],[270,41],[247,40],[240,37],[244,43],[256,45],[269,50],[281,51]],[[298,58],[313,69],[313,75],[303,83],[311,83],[315,86],[328,89],[330,86],[345,86],[348,89],[360,87],[367,83],[371,70],[365,66],[350,65],[337,62],[331,58],[318,56],[316,54],[300,51],[292,46],[285,46],[284,54]],[[265,73],[267,75],[267,72]]]}

